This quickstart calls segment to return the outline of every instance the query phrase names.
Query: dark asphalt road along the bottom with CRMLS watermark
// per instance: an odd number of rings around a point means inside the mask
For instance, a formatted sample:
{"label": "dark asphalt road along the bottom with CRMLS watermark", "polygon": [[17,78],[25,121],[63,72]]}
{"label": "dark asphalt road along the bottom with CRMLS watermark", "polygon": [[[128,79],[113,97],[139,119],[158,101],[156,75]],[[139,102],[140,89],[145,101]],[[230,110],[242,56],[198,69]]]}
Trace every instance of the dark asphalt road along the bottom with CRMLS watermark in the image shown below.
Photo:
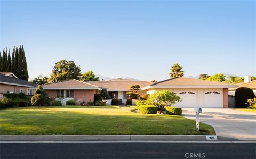
{"label": "dark asphalt road along the bottom with CRMLS watermark", "polygon": [[0,158],[255,159],[256,143],[1,143]]}

